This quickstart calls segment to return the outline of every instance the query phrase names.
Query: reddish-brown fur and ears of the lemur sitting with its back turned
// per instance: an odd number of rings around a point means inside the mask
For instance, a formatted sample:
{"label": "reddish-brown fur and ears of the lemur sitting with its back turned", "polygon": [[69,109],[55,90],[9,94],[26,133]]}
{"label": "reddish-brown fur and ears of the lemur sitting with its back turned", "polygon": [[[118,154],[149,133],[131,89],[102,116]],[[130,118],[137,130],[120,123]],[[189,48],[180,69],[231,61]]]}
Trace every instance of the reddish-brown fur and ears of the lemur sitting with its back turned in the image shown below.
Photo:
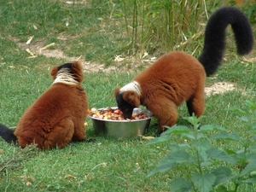
{"label": "reddish-brown fur and ears of the lemur sitting with its back turned", "polygon": [[[22,148],[32,143],[38,148],[63,148],[70,141],[84,140],[88,103],[81,87],[83,68],[79,61],[71,65],[78,84],[51,84],[20,118],[15,136]],[[58,69],[52,67],[50,75],[53,79]]]}

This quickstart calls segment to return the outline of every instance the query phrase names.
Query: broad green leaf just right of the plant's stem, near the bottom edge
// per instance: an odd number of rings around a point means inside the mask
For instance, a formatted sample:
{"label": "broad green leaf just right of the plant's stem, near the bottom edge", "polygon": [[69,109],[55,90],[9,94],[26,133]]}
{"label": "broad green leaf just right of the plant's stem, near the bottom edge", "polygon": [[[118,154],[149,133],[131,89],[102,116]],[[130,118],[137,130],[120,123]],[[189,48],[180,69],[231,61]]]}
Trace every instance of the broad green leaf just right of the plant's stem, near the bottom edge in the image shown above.
{"label": "broad green leaf just right of the plant's stem, near the bottom edge", "polygon": [[212,173],[216,176],[214,186],[218,185],[219,183],[225,183],[232,178],[230,168],[225,166],[219,166],[218,168],[214,169]]}

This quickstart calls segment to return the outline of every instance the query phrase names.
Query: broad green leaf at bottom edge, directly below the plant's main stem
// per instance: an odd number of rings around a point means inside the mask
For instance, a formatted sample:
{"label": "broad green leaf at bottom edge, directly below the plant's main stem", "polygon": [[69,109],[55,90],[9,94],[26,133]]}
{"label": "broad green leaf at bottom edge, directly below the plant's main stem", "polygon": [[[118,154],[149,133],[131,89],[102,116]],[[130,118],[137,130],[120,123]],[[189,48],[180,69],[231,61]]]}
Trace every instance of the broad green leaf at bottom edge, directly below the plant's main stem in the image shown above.
{"label": "broad green leaf at bottom edge, directly below the plant's main stem", "polygon": [[212,189],[212,186],[216,181],[216,176],[212,173],[207,173],[205,175],[195,173],[195,175],[191,177],[191,180],[199,191],[207,192]]}

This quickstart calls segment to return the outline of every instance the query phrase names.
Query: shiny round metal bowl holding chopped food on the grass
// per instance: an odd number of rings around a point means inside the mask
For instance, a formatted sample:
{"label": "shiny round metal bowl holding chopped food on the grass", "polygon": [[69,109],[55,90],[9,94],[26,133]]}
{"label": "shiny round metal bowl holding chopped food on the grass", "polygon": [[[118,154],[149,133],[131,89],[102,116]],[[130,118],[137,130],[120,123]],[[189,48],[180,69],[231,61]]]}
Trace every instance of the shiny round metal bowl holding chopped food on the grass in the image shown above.
{"label": "shiny round metal bowl holding chopped food on the grass", "polygon": [[[113,107],[112,107],[113,108]],[[114,107],[113,109],[116,109]],[[97,110],[102,110],[99,108]],[[144,113],[148,116],[146,119],[132,119],[132,120],[112,120],[99,119],[88,115],[92,120],[93,129],[97,136],[113,137],[113,138],[137,138],[145,134],[146,129],[152,119],[152,113],[146,109],[134,108],[133,113]]]}

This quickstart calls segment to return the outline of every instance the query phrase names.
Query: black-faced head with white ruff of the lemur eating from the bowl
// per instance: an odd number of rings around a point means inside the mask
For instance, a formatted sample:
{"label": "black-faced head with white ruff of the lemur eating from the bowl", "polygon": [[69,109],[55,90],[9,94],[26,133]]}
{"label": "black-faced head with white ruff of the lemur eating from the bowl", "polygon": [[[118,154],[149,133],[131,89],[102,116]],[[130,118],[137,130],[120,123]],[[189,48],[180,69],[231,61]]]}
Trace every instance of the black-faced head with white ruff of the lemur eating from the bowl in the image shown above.
{"label": "black-faced head with white ruff of the lemur eating from the bowl", "polygon": [[115,88],[113,96],[115,96],[118,108],[122,111],[124,119],[131,119],[133,109],[141,105],[141,88],[136,81],[126,84],[122,88]]}

